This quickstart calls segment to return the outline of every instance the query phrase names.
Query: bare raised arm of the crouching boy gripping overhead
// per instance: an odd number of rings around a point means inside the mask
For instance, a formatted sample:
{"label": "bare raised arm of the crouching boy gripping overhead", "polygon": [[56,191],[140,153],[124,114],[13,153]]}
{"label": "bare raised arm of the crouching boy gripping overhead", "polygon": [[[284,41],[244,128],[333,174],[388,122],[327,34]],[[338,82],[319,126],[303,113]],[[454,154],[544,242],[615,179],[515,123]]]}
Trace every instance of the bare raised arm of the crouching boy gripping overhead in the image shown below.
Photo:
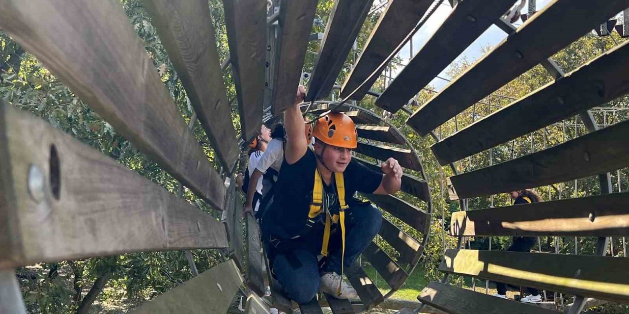
{"label": "bare raised arm of the crouching boy gripping overhead", "polygon": [[304,118],[301,116],[299,104],[306,97],[306,88],[299,85],[295,97],[295,103],[284,111],[284,128],[286,128],[286,150],[284,158],[289,165],[299,161],[308,149],[308,143],[304,141]]}

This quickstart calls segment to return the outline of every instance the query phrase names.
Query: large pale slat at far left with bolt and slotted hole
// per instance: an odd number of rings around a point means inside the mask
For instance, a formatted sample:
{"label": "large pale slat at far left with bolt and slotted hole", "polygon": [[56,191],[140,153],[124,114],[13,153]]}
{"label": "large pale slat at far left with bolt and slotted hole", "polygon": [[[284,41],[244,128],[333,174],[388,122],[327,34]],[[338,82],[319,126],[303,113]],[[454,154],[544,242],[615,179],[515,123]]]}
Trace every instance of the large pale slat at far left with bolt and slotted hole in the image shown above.
{"label": "large pale slat at far left with bolt and slotted hole", "polygon": [[0,160],[0,268],[227,247],[208,213],[2,100]]}

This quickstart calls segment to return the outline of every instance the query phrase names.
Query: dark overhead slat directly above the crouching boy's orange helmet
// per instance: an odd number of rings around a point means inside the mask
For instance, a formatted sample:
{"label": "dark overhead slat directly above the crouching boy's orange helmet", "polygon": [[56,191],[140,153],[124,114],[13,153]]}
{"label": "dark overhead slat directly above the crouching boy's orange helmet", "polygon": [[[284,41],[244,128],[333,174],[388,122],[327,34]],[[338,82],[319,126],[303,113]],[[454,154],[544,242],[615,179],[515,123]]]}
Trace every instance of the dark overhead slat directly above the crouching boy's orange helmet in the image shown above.
{"label": "dark overhead slat directly above the crouching boy's orange helmet", "polygon": [[373,2],[374,0],[334,1],[315,68],[308,81],[306,101],[330,95]]}

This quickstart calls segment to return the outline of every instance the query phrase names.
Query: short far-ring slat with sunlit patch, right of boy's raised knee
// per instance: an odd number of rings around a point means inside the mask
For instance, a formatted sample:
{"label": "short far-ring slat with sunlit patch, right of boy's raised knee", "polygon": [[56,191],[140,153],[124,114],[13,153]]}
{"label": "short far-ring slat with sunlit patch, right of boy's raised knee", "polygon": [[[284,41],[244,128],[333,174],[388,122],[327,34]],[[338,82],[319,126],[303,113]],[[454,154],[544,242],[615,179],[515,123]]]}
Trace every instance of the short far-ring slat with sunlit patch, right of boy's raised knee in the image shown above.
{"label": "short far-ring slat with sunlit patch, right of boy's raised knee", "polygon": [[415,265],[420,261],[421,253],[424,248],[420,242],[417,242],[413,237],[396,227],[387,219],[382,219],[382,227],[379,232],[384,241],[391,244],[394,249],[399,252],[399,264],[411,264]]}

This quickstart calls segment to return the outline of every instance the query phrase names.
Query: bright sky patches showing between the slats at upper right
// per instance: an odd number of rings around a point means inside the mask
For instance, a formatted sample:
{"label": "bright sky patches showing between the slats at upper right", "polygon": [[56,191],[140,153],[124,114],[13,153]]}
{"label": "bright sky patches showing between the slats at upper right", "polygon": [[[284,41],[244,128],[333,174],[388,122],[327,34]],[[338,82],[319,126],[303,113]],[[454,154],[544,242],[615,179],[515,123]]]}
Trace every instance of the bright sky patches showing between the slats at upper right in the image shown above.
{"label": "bright sky patches showing between the slats at upper right", "polygon": [[[552,0],[537,0],[537,11],[540,11],[540,9],[550,3],[550,1]],[[527,8],[528,5],[526,5],[521,12],[526,13]],[[448,17],[450,11],[452,11],[452,8],[450,8],[450,4],[448,4],[448,1],[443,1],[443,4],[437,8],[435,13],[430,16],[428,21],[426,21],[426,23],[420,28],[420,30],[413,36],[413,55],[415,55],[415,53],[420,50],[421,46],[423,46],[426,41],[430,39],[430,36],[435,33],[435,31],[439,28],[443,21]],[[520,24],[522,24],[521,19],[515,23],[515,26],[519,26]],[[455,59],[455,61],[460,60],[464,57],[467,57],[467,59],[470,61],[476,60],[482,56],[481,49],[483,46],[496,46],[498,45],[498,43],[504,40],[504,38],[506,38],[506,33],[500,30],[498,26],[492,25],[481,36],[479,36],[479,38],[477,38],[476,41],[472,43],[472,45],[465,49],[459,55],[459,57]],[[410,45],[409,43],[407,43],[406,46],[404,46],[400,50],[399,53],[399,57],[403,59],[404,64],[408,63],[409,55],[411,55],[411,51]],[[401,70],[401,67],[398,69],[397,72],[399,72],[399,70]],[[440,73],[438,76],[443,78],[450,78],[445,74],[446,70],[447,68],[443,70],[443,72]],[[394,77],[398,74],[397,72],[393,72]],[[440,78],[435,78],[430,82],[430,85],[435,87],[437,90],[441,90],[447,84],[448,82],[446,80],[442,80]]]}

